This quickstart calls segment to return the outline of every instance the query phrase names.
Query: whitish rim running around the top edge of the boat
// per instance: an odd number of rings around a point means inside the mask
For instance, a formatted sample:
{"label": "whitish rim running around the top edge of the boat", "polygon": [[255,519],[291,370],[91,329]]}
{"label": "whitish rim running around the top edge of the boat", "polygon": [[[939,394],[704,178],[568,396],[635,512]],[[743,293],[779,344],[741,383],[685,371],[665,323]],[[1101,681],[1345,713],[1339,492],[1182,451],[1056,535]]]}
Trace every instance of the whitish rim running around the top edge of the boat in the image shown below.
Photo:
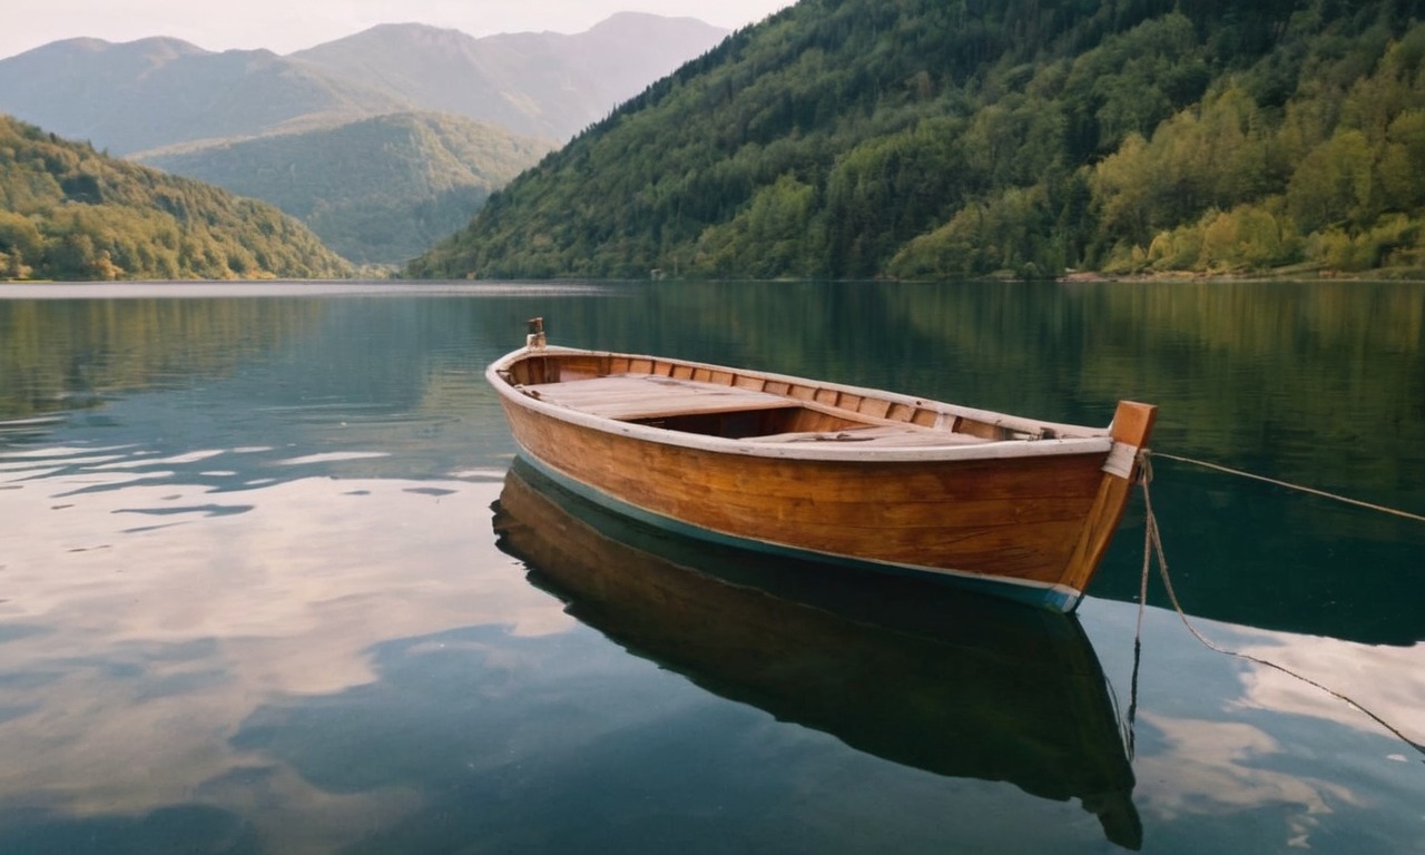
{"label": "whitish rim running around the top edge of the boat", "polygon": [[[1012,430],[1029,432],[1036,429],[1047,429],[1053,432],[1077,432],[1086,436],[1056,436],[1056,437],[1026,436],[1015,439],[986,440],[979,443],[960,443],[952,440],[945,445],[896,446],[896,445],[871,445],[871,443],[838,445],[832,442],[817,442],[817,443],[758,442],[758,437],[755,436],[742,439],[727,439],[721,436],[687,433],[680,430],[668,430],[664,428],[640,425],[637,422],[624,422],[608,416],[598,416],[587,410],[544,402],[540,400],[539,398],[533,398],[530,395],[523,393],[517,385],[512,383],[509,379],[506,379],[506,376],[503,376],[502,372],[509,372],[510,366],[513,366],[516,362],[520,362],[527,358],[537,358],[540,355],[594,356],[594,358],[637,359],[637,361],[647,359],[653,362],[667,362],[673,365],[688,366],[693,369],[730,372],[738,376],[755,376],[762,380],[771,380],[779,383],[809,385],[821,389],[835,389],[838,392],[846,392],[864,398],[888,400],[891,403],[899,403],[921,409],[932,409],[946,416],[966,418],[978,422],[1007,428]],[[915,398],[911,395],[888,392],[884,389],[868,389],[845,383],[835,383],[829,380],[812,380],[808,378],[779,375],[755,369],[737,369],[722,365],[693,362],[687,359],[677,359],[668,356],[647,356],[647,355],[621,353],[613,351],[587,351],[581,348],[563,348],[554,345],[549,345],[544,348],[526,346],[517,351],[512,351],[504,356],[496,359],[493,363],[490,363],[489,368],[486,368],[484,376],[486,380],[499,392],[502,398],[510,400],[512,403],[520,406],[522,409],[527,409],[539,415],[557,419],[560,422],[579,425],[581,428],[597,430],[600,433],[621,435],[631,439],[638,439],[657,445],[680,446],[703,452],[735,455],[742,457],[751,456],[751,457],[772,457],[772,459],[788,459],[788,460],[828,460],[828,462],[848,460],[848,462],[885,462],[885,463],[1012,460],[1012,459],[1030,459],[1030,457],[1057,457],[1070,455],[1107,455],[1116,445],[1113,437],[1110,436],[1112,425],[1109,428],[1089,428],[1082,425],[1040,422],[1036,419],[1026,419],[1022,416],[1012,416],[1007,413],[999,413],[993,410],[982,410],[960,405],[945,403],[940,400]],[[579,382],[579,380],[566,380],[566,382]],[[809,403],[807,400],[794,396],[785,396],[785,399],[788,405],[799,406],[804,403]],[[909,422],[906,422],[906,425],[912,426]]]}

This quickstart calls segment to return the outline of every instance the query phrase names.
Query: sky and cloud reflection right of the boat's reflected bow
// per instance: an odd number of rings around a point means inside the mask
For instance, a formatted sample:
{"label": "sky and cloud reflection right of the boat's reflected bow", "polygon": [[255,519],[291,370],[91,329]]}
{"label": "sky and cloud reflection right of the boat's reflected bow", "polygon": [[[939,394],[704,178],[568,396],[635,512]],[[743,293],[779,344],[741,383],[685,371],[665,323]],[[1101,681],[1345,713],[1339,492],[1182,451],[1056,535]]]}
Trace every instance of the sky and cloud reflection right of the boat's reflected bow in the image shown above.
{"label": "sky and cloud reflection right of the boat's reflected bow", "polygon": [[[1137,607],[1090,597],[1080,611],[1123,691]],[[1223,648],[1349,694],[1411,738],[1422,727],[1425,646],[1188,620]],[[1147,608],[1141,644],[1133,768],[1144,851],[1398,852],[1401,841],[1425,839],[1414,801],[1422,758],[1368,715],[1277,668],[1204,647],[1174,611]]]}

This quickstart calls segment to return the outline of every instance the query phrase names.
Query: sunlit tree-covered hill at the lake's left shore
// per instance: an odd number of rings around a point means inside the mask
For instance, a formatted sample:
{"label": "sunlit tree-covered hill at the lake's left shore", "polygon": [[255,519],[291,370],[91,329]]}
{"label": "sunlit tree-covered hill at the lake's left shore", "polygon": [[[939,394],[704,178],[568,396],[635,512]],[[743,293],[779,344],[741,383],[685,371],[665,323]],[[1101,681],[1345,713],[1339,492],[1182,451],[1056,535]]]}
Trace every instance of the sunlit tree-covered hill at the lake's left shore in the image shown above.
{"label": "sunlit tree-covered hill at the lake's left shore", "polygon": [[349,274],[316,235],[271,205],[0,115],[0,279]]}

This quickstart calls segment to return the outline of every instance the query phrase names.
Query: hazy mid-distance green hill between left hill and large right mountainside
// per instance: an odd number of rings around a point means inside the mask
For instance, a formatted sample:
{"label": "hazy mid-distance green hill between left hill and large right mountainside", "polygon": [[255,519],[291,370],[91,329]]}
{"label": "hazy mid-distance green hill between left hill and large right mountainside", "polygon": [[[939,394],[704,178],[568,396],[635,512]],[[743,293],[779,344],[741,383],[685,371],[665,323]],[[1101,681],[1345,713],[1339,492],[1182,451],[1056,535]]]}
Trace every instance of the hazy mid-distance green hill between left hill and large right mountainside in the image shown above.
{"label": "hazy mid-distance green hill between left hill and large right mountainside", "polygon": [[551,148],[455,115],[402,113],[135,160],[272,202],[353,262],[399,264]]}

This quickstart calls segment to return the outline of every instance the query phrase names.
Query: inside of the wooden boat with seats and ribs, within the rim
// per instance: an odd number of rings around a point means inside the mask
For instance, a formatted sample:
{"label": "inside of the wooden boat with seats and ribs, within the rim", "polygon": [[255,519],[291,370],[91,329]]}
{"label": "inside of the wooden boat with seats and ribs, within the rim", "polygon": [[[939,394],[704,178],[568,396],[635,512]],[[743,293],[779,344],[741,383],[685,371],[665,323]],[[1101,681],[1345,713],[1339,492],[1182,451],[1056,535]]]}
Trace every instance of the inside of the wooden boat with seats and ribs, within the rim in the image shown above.
{"label": "inside of the wooden boat with seats and ribs, within the rim", "polygon": [[990,422],[935,402],[656,358],[532,352],[502,376],[556,406],[724,439],[943,446],[1045,439],[1059,428],[1009,416]]}

